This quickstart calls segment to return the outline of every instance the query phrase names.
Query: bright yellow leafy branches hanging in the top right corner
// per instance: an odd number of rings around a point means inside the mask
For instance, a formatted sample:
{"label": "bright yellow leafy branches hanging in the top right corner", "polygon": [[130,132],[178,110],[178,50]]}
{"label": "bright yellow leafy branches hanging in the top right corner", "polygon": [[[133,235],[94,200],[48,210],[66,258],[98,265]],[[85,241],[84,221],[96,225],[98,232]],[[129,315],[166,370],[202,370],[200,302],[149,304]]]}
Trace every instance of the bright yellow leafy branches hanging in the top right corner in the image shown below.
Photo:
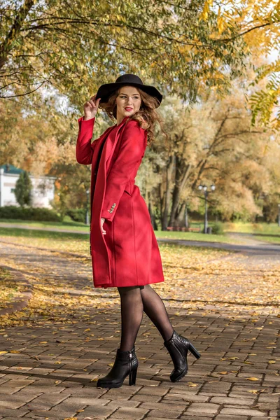
{"label": "bright yellow leafy branches hanging in the top right corner", "polygon": [[[221,41],[232,42],[232,37],[224,33],[232,25],[239,28],[246,49],[250,52],[250,64],[255,66],[256,75],[252,85],[264,81],[265,85],[248,94],[248,103],[252,111],[252,123],[280,128],[280,3],[279,0],[225,0],[216,3],[207,0],[202,10],[202,19],[208,20],[209,13],[218,9],[218,29]],[[255,61],[272,55],[272,60],[258,65]]]}

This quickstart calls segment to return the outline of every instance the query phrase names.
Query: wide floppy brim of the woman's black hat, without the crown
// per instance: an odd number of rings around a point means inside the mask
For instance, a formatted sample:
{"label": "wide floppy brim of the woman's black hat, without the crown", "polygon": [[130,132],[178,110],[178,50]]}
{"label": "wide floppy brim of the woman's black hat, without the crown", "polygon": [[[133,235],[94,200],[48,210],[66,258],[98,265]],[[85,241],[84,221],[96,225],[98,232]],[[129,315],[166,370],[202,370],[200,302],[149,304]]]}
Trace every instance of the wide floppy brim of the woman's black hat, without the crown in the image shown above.
{"label": "wide floppy brim of the woman's black hat, without the crown", "polygon": [[148,93],[151,97],[155,97],[158,99],[158,106],[160,106],[160,103],[162,102],[162,94],[158,91],[158,89],[154,86],[149,85],[141,85],[140,83],[130,83],[130,82],[117,82],[117,83],[106,83],[105,85],[102,85],[99,87],[99,90],[97,90],[97,96],[96,99],[101,98],[100,103],[108,102],[109,97],[113,92],[116,92],[120,87],[123,86],[134,86],[137,87],[140,90],[143,90],[144,92]]}

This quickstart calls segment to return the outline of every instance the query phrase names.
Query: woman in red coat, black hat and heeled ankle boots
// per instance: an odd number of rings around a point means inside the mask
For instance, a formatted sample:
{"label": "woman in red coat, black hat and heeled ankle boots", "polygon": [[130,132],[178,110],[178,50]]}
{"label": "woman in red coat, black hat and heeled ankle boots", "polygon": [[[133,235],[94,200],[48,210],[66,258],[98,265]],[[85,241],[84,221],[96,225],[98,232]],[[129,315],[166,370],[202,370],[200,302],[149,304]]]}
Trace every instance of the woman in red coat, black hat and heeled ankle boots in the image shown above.
{"label": "woman in red coat, black hat and heeled ankle boots", "polygon": [[[94,287],[117,287],[121,304],[121,341],[109,374],[98,379],[97,386],[118,388],[130,375],[136,383],[138,360],[135,340],[143,311],[160,331],[174,363],[171,381],[179,381],[188,372],[187,353],[196,358],[188,339],[177,334],[158,293],[151,283],[164,281],[158,242],[151,218],[134,178],[144,157],[148,141],[153,140],[155,111],[162,94],[144,85],[133,74],[108,83],[84,105],[79,118],[76,159],[92,165],[90,248]],[[97,109],[102,108],[116,125],[109,127],[91,144]]]}

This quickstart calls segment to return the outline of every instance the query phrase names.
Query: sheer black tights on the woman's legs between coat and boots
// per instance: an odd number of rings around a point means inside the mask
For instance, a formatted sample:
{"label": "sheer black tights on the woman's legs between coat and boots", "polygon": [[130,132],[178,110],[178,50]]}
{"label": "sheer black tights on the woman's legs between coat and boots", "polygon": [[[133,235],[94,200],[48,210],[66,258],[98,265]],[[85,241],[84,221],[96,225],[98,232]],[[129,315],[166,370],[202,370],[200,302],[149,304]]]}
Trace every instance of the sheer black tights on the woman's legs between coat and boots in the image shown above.
{"label": "sheer black tights on the woman's legs between coat and boots", "polygon": [[146,286],[118,287],[122,320],[120,350],[131,350],[134,346],[143,311],[155,324],[164,340],[172,337],[173,327],[169,320],[165,304],[158,293]]}

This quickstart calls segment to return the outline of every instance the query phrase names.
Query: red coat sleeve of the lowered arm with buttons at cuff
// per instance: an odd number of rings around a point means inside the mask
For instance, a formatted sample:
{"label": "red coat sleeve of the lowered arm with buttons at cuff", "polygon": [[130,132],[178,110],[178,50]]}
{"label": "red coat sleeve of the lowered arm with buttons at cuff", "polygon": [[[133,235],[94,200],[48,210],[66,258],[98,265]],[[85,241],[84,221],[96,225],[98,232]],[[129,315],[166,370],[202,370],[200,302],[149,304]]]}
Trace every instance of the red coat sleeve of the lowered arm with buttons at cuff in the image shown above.
{"label": "red coat sleeve of the lowered arm with buttons at cuff", "polygon": [[135,120],[130,120],[121,136],[118,158],[106,179],[106,191],[101,217],[113,221],[127,181],[146,149],[146,132]]}

